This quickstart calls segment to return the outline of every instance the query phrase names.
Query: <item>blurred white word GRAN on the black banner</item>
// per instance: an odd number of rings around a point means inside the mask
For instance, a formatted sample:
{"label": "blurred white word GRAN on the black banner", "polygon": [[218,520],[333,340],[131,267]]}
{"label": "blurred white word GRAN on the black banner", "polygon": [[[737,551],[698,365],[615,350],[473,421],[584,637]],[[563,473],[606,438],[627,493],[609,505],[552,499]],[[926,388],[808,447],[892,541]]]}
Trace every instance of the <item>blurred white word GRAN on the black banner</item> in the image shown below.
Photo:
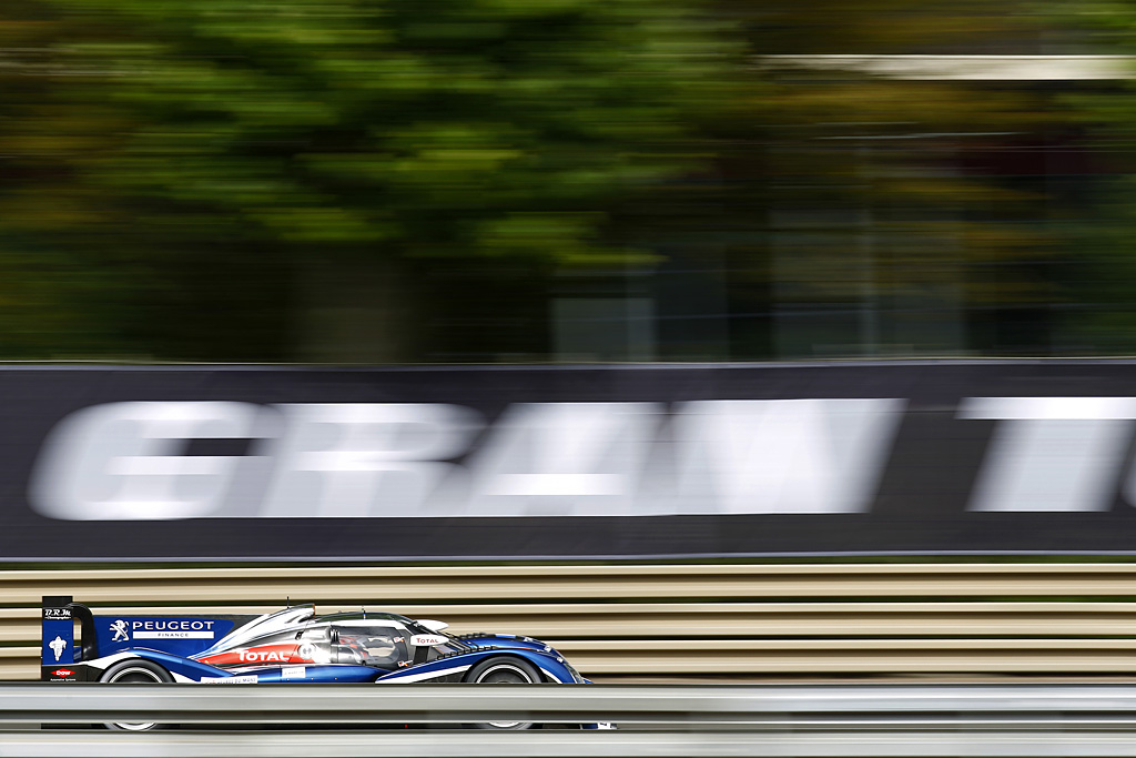
{"label": "blurred white word GRAN on the black banner", "polygon": [[[78,520],[855,513],[903,405],[521,403],[470,450],[483,419],[442,403],[109,403],[52,431],[30,501]],[[249,435],[256,456],[175,455]]]}

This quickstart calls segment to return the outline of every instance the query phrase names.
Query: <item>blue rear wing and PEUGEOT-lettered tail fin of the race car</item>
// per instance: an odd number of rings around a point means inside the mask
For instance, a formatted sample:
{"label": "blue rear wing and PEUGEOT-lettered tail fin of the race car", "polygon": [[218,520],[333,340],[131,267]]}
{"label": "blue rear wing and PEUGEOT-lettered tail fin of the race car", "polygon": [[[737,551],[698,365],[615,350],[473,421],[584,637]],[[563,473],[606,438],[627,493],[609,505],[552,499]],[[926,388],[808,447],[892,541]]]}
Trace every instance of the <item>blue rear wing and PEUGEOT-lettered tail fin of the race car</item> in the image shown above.
{"label": "blue rear wing and PEUGEOT-lettered tail fin of the race car", "polygon": [[[89,660],[143,648],[187,658],[256,616],[95,616],[69,595],[43,598],[40,678],[80,682]],[[75,639],[75,625],[80,639]]]}

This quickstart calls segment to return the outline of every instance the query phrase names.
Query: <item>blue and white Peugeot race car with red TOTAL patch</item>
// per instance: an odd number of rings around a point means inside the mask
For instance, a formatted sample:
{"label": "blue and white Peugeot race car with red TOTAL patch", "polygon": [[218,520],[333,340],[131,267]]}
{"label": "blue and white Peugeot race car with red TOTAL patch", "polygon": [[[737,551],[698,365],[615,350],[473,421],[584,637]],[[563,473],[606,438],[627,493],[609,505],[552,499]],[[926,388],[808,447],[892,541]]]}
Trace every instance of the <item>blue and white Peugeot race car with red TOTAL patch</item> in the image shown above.
{"label": "blue and white Peugeot race car with red TOTAL patch", "polygon": [[[590,683],[538,640],[485,633],[451,636],[446,627],[365,609],[316,616],[311,605],[264,616],[95,616],[69,597],[45,597],[40,676],[49,682],[193,684]],[[144,731],[154,724],[110,726]],[[477,726],[519,730],[532,724]],[[585,726],[596,727],[609,725]]]}

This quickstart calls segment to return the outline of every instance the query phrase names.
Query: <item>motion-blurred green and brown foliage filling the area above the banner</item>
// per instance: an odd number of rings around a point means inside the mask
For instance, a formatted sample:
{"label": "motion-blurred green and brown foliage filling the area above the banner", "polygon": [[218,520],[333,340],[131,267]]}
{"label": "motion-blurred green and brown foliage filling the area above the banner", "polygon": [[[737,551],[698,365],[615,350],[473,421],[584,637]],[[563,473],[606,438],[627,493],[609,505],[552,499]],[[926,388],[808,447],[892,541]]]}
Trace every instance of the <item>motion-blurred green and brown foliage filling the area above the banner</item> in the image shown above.
{"label": "motion-blurred green and brown foliage filling the area above the banner", "polygon": [[[724,280],[695,318],[892,311],[866,350],[959,351],[904,309],[980,332],[1077,297],[1085,215],[1053,224],[1045,181],[983,164],[1069,109],[782,56],[1031,52],[1052,23],[1022,0],[7,3],[0,357],[543,359],[565,281],[668,270]],[[738,324],[661,357],[796,355]]]}

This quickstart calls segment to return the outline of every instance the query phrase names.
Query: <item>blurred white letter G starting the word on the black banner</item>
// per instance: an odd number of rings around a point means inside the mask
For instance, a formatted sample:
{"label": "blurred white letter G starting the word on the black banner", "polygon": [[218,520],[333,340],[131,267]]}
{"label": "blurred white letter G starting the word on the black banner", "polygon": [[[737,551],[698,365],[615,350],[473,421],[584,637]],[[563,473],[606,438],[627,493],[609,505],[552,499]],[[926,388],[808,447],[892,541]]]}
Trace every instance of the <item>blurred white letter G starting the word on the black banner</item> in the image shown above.
{"label": "blurred white letter G starting the word on the black banner", "polygon": [[233,456],[183,456],[185,440],[248,438],[260,413],[244,402],[112,402],[51,431],[32,474],[36,511],[68,520],[215,515]]}

